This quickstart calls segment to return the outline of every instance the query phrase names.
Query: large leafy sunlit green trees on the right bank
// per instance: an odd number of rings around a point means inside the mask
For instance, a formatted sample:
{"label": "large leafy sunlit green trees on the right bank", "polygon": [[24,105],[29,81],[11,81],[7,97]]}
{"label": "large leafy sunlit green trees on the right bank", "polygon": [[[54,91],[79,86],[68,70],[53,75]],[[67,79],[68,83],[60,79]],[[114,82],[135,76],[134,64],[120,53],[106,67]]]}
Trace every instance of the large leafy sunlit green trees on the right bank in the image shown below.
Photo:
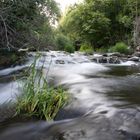
{"label": "large leafy sunlit green trees on the right bank", "polygon": [[139,0],[84,0],[69,7],[60,20],[59,30],[71,41],[80,42],[81,50],[115,51],[139,46],[139,27]]}

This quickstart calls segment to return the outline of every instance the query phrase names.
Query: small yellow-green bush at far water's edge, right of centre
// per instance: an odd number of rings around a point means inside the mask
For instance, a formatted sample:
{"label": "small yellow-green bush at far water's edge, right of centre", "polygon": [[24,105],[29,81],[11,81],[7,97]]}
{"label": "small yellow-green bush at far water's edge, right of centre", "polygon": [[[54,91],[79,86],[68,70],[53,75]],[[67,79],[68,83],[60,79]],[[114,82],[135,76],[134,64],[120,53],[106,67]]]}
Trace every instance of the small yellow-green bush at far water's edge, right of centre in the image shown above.
{"label": "small yellow-green bush at far water's edge, right of centre", "polygon": [[81,52],[85,52],[87,54],[92,54],[93,53],[93,48],[91,45],[88,44],[82,44],[80,47]]}

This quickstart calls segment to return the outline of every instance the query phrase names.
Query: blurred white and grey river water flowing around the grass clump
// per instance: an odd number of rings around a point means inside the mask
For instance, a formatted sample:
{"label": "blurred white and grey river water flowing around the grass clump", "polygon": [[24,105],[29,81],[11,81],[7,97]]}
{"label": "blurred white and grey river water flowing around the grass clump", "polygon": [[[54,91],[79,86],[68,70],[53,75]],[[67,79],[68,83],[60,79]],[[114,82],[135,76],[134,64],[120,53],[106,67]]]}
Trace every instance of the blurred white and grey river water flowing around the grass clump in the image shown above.
{"label": "blurred white and grey river water flowing around the grass clump", "polygon": [[[33,62],[0,70],[0,140],[140,140],[140,66],[97,64],[80,53],[40,52],[36,68],[71,100],[54,122],[9,121],[10,104],[22,86],[22,71]],[[7,107],[8,105],[8,107]]]}

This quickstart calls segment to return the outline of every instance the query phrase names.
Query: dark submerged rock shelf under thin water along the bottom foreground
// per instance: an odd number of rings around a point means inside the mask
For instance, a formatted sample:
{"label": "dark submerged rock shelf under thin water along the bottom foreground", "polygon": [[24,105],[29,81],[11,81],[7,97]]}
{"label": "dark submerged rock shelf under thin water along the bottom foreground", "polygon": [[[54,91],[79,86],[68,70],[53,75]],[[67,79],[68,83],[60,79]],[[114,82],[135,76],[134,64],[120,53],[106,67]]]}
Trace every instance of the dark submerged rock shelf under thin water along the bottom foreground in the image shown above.
{"label": "dark submerged rock shelf under thin water along the bottom foreground", "polygon": [[0,140],[138,140],[136,110],[120,110],[111,117],[89,113],[52,123],[17,123],[5,126]]}

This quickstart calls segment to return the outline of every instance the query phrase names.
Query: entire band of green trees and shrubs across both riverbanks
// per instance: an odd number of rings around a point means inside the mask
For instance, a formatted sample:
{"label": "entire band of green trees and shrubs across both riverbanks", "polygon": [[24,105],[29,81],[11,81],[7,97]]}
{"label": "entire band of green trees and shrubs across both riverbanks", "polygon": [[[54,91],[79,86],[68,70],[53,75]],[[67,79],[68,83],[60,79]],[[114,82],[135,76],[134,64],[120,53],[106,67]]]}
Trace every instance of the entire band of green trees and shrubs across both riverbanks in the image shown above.
{"label": "entire band of green trees and shrubs across both riverbanks", "polygon": [[62,17],[55,0],[0,0],[0,48],[90,53],[128,46],[140,46],[139,0],[84,0]]}

